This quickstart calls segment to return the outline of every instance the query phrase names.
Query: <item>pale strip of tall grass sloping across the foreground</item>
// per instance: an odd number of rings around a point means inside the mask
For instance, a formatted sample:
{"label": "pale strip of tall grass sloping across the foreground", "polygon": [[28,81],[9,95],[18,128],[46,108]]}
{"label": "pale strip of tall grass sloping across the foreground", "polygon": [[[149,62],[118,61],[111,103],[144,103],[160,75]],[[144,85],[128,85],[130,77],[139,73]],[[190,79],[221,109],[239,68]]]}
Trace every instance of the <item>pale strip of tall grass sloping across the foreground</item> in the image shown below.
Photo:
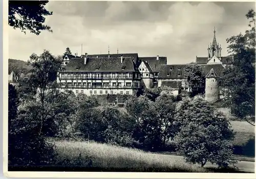
{"label": "pale strip of tall grass sloping across the foreground", "polygon": [[204,168],[189,165],[171,155],[145,153],[138,149],[95,142],[57,141],[56,151],[58,161],[74,161],[80,155],[81,166],[87,166],[87,160],[92,159],[92,167],[98,168],[136,168],[136,171],[154,168],[166,172],[206,172]]}

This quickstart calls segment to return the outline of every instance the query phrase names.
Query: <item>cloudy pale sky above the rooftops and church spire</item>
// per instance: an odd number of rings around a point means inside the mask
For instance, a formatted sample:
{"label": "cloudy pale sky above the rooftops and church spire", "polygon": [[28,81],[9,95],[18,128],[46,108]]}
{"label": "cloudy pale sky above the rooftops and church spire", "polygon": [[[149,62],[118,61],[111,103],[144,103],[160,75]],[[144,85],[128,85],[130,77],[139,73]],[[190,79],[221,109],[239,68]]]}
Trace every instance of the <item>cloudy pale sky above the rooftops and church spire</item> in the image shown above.
{"label": "cloudy pale sky above the rooftops and church spire", "polygon": [[38,36],[9,27],[9,58],[27,61],[44,49],[53,55],[138,53],[166,56],[167,64],[189,63],[207,56],[216,27],[222,56],[226,38],[248,29],[245,14],[253,2],[90,2],[49,1],[53,15],[46,25],[53,33]]}

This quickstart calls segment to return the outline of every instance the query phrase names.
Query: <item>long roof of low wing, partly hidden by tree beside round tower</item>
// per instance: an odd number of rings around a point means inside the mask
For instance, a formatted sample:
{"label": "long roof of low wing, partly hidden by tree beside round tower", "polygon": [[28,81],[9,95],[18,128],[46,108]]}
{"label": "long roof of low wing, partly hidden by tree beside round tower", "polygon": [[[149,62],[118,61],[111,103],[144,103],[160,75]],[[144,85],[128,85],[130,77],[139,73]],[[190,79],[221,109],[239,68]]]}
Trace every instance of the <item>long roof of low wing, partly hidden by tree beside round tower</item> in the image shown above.
{"label": "long roof of low wing, partly hidden by tree beside round tower", "polygon": [[[159,79],[184,79],[186,65],[194,64],[167,64],[161,65],[160,73],[158,75]],[[224,71],[224,66],[220,63],[213,64],[198,64],[203,70],[203,75],[206,76],[211,69],[214,69],[218,76],[221,76]],[[172,69],[172,70],[170,70]],[[180,70],[179,70],[180,69]],[[178,75],[180,74],[180,76]]]}

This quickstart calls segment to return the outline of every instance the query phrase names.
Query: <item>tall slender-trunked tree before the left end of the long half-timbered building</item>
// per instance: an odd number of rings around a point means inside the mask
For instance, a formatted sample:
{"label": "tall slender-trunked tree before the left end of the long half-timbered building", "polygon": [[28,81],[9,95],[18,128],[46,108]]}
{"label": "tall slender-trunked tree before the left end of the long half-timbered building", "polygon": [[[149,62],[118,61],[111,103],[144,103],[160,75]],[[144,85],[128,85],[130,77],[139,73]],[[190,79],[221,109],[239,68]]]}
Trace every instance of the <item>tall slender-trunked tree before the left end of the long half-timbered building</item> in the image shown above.
{"label": "tall slender-trunked tree before the left end of the long half-timbered building", "polygon": [[55,80],[61,63],[46,50],[40,56],[32,54],[29,63],[33,67],[30,71],[29,85],[37,92],[35,100],[40,105],[38,113],[41,121],[38,131],[40,136],[43,123],[46,121],[52,107],[51,104],[59,93],[59,84]]}

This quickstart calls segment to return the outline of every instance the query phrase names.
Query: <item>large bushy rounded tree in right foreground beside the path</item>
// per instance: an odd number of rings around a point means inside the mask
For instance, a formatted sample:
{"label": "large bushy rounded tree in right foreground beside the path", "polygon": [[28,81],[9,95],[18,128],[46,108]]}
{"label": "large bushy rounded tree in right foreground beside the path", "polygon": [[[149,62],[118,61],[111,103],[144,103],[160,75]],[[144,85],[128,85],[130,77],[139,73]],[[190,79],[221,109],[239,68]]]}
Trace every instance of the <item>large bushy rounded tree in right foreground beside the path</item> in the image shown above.
{"label": "large bushy rounded tree in right foreground beside the path", "polygon": [[202,97],[185,98],[177,107],[175,142],[187,162],[216,163],[227,167],[235,162],[231,140],[234,137],[226,117]]}

